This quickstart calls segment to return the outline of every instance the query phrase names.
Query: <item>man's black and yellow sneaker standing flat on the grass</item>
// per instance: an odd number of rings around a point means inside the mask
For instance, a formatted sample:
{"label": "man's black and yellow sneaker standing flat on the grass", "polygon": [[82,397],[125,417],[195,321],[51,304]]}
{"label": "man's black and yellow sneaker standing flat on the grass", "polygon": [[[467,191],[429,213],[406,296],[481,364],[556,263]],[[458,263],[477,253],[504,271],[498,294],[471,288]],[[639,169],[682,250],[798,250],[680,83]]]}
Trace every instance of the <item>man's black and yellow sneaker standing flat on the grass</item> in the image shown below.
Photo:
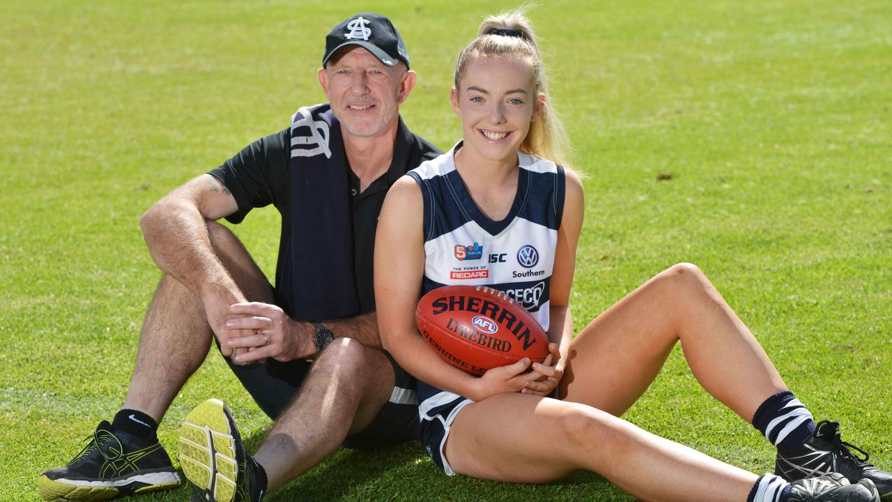
{"label": "man's black and yellow sneaker standing flat on the grass", "polygon": [[37,478],[37,492],[44,500],[105,500],[179,484],[179,474],[158,439],[111,431],[111,423],[103,420],[68,465]]}

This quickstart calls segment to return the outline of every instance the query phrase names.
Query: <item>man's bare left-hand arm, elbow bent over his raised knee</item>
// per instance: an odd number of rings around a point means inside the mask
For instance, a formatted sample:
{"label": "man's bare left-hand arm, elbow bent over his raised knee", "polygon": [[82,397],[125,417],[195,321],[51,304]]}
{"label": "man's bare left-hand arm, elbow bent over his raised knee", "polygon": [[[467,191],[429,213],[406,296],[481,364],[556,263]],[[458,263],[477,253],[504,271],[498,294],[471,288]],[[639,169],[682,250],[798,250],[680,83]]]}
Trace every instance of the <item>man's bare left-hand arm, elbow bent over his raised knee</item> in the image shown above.
{"label": "man's bare left-hand arm, elbow bent over his raised knee", "polygon": [[230,336],[225,328],[228,307],[245,297],[211,247],[208,222],[237,209],[229,190],[210,174],[202,174],[161,198],[139,222],[161,271],[202,298],[224,356],[231,354],[223,343]]}

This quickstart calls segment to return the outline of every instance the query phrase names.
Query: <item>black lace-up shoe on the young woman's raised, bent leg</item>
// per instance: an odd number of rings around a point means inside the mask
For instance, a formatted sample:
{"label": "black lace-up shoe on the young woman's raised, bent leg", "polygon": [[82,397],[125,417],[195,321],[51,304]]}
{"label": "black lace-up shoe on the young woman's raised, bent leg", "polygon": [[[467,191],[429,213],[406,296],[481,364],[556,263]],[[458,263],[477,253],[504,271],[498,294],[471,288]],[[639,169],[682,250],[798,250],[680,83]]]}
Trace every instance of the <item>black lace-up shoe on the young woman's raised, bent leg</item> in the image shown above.
{"label": "black lace-up shoe on the young woman's raised, bent leg", "polygon": [[[849,448],[864,457],[855,456]],[[852,482],[871,480],[880,491],[880,498],[892,498],[892,474],[868,464],[869,458],[863,449],[840,439],[839,423],[823,420],[801,447],[782,452],[778,449],[774,473],[787,481],[840,473]]]}

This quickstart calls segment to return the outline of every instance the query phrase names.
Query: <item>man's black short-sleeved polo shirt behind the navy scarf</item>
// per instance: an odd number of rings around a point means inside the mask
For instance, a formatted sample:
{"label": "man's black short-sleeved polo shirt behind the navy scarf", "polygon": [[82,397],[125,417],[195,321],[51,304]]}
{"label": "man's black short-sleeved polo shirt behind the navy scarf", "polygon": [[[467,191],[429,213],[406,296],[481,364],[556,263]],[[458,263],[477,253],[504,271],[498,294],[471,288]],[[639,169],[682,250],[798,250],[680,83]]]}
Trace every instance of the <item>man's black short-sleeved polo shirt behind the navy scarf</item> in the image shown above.
{"label": "man's black short-sleeved polo shirt behind the navy scarf", "polygon": [[[276,284],[281,282],[280,274],[285,265],[283,257],[288,255],[286,247],[291,242],[292,193],[288,167],[291,150],[289,142],[290,129],[281,130],[246,146],[237,155],[210,172],[211,176],[220,180],[232,192],[235,202],[238,204],[238,210],[227,216],[228,222],[242,222],[244,216],[252,208],[270,204],[275,205],[282,215]],[[360,308],[360,312],[356,314],[375,310],[372,253],[375,250],[378,214],[381,213],[381,205],[384,204],[387,189],[403,174],[441,153],[436,146],[413,134],[400,119],[390,169],[374,180],[365,191],[359,192],[359,178],[352,172],[350,165],[345,163],[341,166],[347,171],[349,180],[349,186],[343,189],[351,194],[353,268],[356,275]],[[333,229],[333,231],[337,230]],[[279,294],[286,294],[286,292],[280,291]],[[285,308],[284,305],[280,306]]]}

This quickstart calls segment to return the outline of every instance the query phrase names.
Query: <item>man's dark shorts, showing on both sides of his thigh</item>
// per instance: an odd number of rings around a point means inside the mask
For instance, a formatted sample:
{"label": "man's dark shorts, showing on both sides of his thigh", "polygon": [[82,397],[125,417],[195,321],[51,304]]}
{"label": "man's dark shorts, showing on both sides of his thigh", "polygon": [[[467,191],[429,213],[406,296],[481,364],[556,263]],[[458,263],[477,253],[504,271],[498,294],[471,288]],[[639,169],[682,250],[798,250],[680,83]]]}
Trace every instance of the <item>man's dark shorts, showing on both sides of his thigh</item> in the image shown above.
{"label": "man's dark shorts, showing on both sides of his thigh", "polygon": [[[396,364],[390,354],[383,352],[393,369],[391,397],[368,427],[344,439],[343,446],[347,448],[382,448],[417,439],[416,380]],[[310,371],[310,362],[303,359],[285,363],[268,359],[263,364],[234,364],[227,357],[224,359],[263,413],[273,420],[291,404]]]}

